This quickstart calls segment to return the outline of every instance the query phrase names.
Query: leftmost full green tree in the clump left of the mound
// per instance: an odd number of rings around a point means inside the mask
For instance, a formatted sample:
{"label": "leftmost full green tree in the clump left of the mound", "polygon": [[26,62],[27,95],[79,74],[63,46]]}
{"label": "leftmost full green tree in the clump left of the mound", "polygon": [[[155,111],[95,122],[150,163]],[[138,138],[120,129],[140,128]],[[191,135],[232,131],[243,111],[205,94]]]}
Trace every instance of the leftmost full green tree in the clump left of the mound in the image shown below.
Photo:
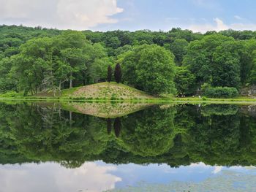
{"label": "leftmost full green tree in the clump left of the mound", "polygon": [[20,47],[20,53],[12,56],[10,75],[18,78],[18,90],[25,94],[42,90],[44,73],[50,62],[51,40],[48,37],[31,39]]}

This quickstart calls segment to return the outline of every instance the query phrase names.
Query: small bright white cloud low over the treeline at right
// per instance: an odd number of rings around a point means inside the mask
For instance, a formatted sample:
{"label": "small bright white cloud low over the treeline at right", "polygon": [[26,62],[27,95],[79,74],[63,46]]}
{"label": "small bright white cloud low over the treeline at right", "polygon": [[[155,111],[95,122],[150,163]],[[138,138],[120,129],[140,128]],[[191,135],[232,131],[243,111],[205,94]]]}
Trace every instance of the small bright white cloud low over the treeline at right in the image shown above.
{"label": "small bright white cloud low over the treeline at right", "polygon": [[192,24],[187,26],[188,29],[195,32],[205,33],[206,31],[223,31],[227,29],[233,29],[237,31],[243,30],[256,30],[255,23],[231,23],[229,25],[225,24],[221,19],[214,18],[214,23],[203,23],[203,24]]}

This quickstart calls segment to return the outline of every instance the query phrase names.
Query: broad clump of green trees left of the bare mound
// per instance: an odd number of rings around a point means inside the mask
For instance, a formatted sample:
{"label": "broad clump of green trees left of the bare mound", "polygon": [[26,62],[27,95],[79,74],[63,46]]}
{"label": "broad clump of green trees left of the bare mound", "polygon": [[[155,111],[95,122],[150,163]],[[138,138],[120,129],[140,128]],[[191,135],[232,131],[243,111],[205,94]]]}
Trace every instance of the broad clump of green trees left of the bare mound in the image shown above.
{"label": "broad clump of green trees left of the bare mound", "polygon": [[[102,45],[88,42],[81,32],[65,31],[48,38],[31,39],[20,47],[20,53],[10,58],[10,77],[17,78],[19,91],[72,88],[86,81],[105,78],[109,62]],[[103,70],[104,69],[104,70]],[[66,83],[66,84],[65,84]]]}

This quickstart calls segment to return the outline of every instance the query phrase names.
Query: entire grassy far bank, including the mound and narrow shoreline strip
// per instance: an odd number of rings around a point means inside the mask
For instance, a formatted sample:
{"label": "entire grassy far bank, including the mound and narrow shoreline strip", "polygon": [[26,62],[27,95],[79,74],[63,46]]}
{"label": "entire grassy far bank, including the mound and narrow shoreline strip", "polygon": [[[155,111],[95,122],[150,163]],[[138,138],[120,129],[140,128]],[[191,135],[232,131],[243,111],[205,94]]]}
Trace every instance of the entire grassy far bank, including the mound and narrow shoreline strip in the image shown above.
{"label": "entire grassy far bank, including the mound and narrow shoreline strip", "polygon": [[35,96],[22,96],[10,92],[0,95],[0,100],[19,101],[126,101],[144,103],[212,103],[212,104],[256,104],[256,99],[239,96],[232,99],[211,99],[199,97],[177,98],[173,96],[151,96],[143,91],[116,82],[100,82],[61,91],[61,96],[53,96],[52,91],[38,93]]}

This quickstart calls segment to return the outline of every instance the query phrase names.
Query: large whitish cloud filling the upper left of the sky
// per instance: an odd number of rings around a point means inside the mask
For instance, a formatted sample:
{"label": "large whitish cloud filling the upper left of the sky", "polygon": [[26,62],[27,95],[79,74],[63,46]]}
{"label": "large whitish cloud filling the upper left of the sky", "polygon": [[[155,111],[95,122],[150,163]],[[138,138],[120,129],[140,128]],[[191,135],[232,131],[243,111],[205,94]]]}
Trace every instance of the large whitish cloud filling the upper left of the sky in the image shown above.
{"label": "large whitish cloud filling the upper left of the sky", "polygon": [[116,0],[0,0],[0,23],[84,30],[103,23],[123,9]]}

